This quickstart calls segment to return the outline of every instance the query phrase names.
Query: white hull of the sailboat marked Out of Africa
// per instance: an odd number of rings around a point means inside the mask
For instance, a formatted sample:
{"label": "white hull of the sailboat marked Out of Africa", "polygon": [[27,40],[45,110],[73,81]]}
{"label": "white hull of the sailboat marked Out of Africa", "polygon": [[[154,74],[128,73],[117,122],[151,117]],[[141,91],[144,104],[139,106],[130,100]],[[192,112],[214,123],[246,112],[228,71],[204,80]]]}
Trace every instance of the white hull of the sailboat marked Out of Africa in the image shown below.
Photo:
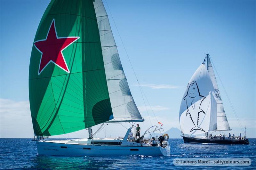
{"label": "white hull of the sailboat marked Out of Africa", "polygon": [[113,145],[84,145],[65,144],[56,142],[36,141],[39,155],[58,156],[168,156],[170,155],[170,145],[161,146],[113,146]]}

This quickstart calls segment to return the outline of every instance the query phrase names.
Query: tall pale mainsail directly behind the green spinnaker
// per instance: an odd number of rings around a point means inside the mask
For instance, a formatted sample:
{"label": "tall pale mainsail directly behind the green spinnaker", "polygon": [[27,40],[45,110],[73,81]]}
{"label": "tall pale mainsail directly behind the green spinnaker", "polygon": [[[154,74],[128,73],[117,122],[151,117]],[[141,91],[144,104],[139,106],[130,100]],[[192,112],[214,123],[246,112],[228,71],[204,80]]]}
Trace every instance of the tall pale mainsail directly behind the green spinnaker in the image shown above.
{"label": "tall pale mainsail directly behind the green spinnaker", "polygon": [[133,100],[111,31],[108,15],[101,0],[95,0],[101,49],[103,54],[108,92],[114,120],[109,122],[143,122]]}

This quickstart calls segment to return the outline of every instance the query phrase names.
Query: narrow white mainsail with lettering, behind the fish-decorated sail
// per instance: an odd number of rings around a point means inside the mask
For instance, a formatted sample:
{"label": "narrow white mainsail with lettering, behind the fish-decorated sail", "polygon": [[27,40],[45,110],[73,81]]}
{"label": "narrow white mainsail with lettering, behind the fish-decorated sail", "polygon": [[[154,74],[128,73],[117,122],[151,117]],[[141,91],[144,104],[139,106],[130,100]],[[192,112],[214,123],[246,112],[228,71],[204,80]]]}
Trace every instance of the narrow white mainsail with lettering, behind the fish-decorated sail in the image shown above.
{"label": "narrow white mainsail with lettering, behind the fish-decorated sail", "polygon": [[216,76],[214,74],[213,68],[212,68],[212,63],[210,60],[210,57],[207,54],[207,58],[206,58],[206,67],[207,70],[210,74],[211,80],[212,80],[212,84],[213,84],[213,88],[214,88],[214,92],[215,92],[215,99],[217,102],[217,121],[218,121],[218,131],[229,131],[231,130],[228,124],[228,119],[226,117],[226,113],[223,107],[223,103],[220,97],[220,90],[217,84],[217,80],[216,80]]}

